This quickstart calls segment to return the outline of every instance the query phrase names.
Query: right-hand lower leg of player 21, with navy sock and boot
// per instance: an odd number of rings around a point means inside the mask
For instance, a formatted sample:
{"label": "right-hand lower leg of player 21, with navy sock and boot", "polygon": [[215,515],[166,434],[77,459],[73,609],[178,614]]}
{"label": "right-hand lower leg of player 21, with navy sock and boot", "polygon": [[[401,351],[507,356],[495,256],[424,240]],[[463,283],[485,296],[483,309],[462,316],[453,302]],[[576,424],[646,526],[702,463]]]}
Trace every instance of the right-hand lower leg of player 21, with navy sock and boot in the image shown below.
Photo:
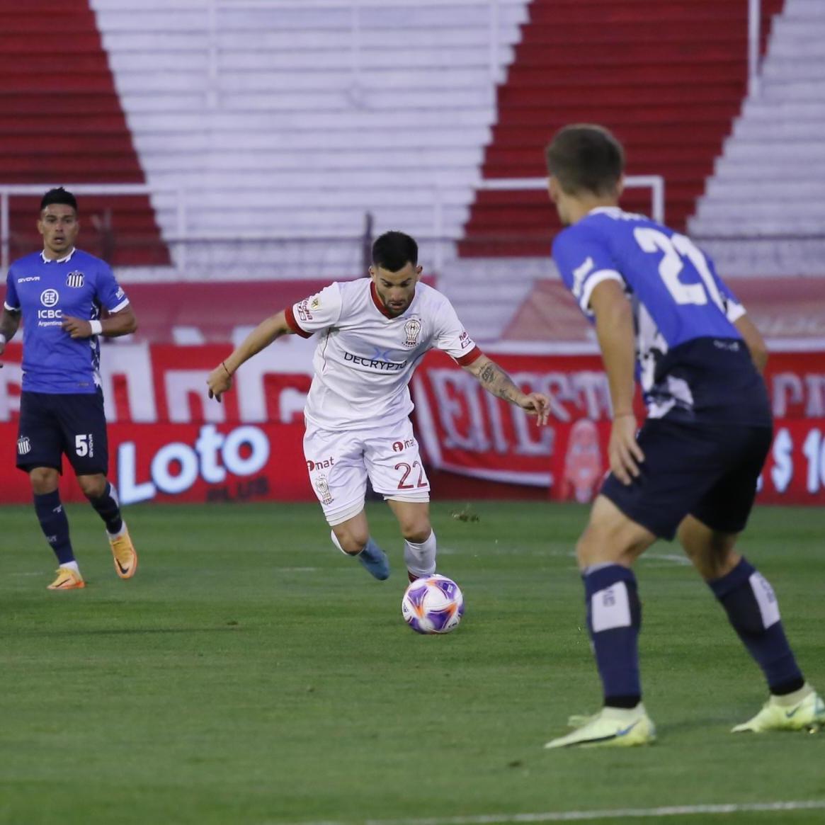
{"label": "right-hand lower leg of player 21, with navy sock and boot", "polygon": [[770,583],[734,549],[738,535],[713,530],[694,516],[686,516],[677,535],[771,691],[761,711],[733,732],[813,730],[825,725],[825,703],[796,664]]}

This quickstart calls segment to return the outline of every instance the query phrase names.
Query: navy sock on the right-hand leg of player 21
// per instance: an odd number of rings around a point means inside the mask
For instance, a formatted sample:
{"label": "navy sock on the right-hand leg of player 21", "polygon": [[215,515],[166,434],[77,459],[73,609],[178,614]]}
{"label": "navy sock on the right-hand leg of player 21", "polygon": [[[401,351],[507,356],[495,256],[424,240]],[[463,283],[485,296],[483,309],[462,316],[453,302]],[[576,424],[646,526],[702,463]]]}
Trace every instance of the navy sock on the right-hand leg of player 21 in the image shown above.
{"label": "navy sock on the right-hand leg of player 21", "polygon": [[708,584],[739,639],[761,667],[771,693],[799,690],[804,677],[785,638],[779,603],[767,579],[742,558],[730,573]]}

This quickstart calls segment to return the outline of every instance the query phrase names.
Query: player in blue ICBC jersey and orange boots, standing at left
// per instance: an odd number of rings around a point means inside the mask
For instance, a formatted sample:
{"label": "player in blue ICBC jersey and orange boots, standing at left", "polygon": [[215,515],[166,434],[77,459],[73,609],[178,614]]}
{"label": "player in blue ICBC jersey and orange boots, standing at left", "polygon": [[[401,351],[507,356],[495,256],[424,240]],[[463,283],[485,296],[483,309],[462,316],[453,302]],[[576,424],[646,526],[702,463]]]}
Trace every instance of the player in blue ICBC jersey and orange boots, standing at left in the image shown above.
{"label": "player in blue ICBC jersey and orange boots, standing at left", "polygon": [[[117,493],[106,480],[106,418],[98,375],[99,337],[126,335],[137,323],[106,262],[75,248],[80,224],[71,192],[46,192],[37,228],[43,251],[9,267],[0,355],[25,318],[17,467],[31,479],[40,527],[58,559],[49,589],[74,590],[86,585],[60,502],[63,455],[106,524],[118,576],[131,578],[138,567]],[[101,318],[103,309],[107,318]]]}

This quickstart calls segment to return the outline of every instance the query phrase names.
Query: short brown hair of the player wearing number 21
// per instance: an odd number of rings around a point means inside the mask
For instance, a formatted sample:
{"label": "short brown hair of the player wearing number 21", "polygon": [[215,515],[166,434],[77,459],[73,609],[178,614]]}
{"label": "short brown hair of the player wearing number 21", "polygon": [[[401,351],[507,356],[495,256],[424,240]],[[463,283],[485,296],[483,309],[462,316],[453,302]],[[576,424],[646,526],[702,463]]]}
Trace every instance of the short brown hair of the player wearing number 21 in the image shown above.
{"label": "short brown hair of the player wearing number 21", "polygon": [[625,171],[625,150],[610,130],[577,123],[559,130],[544,150],[547,171],[568,195],[615,192]]}

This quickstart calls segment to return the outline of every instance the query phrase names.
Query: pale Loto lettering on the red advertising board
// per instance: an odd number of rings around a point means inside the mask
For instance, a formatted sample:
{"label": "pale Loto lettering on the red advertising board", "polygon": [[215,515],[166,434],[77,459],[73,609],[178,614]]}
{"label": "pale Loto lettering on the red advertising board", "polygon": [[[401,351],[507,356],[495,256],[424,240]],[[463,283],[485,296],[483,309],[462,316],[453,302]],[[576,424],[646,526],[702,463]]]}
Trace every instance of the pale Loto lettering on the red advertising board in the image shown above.
{"label": "pale Loto lettering on the red advertising board", "polygon": [[177,496],[199,479],[220,484],[227,474],[254,475],[266,466],[269,453],[269,439],[258,427],[237,427],[224,436],[214,424],[205,424],[194,445],[172,441],[161,447],[149,464],[149,479],[139,481],[137,446],[125,441],[117,450],[120,502],[145,502],[158,492]]}

